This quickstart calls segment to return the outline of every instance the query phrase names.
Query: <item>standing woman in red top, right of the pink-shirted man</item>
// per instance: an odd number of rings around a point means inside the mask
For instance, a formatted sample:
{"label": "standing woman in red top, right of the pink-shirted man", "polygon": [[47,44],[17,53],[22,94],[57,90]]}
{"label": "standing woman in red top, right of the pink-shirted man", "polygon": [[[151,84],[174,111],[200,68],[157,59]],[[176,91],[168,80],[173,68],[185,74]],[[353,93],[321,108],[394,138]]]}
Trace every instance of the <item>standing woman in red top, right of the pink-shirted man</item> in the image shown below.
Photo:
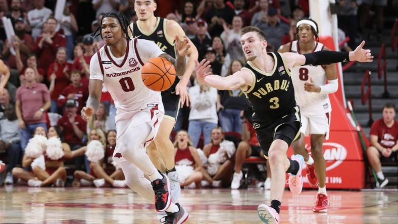
{"label": "standing woman in red top, right of the pink-shirted man", "polygon": [[58,97],[61,92],[69,85],[71,64],[69,64],[66,56],[67,49],[65,47],[59,47],[57,49],[56,60],[48,68],[47,79],[51,80],[53,89],[49,88],[51,94],[51,113],[62,114],[60,108],[57,105]]}

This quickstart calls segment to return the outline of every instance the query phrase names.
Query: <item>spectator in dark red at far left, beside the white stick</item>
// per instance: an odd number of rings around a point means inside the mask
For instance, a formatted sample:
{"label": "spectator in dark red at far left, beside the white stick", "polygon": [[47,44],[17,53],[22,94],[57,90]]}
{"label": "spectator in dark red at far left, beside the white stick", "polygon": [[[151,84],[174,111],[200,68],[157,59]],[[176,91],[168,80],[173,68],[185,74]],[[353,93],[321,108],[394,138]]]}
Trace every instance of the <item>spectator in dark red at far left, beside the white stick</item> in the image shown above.
{"label": "spectator in dark red at far left, beside the white stick", "polygon": [[[20,0],[14,0],[14,1],[20,1]],[[15,25],[14,25],[15,36],[13,36],[13,44],[14,45],[18,44],[22,61],[26,61],[26,58],[28,57],[29,54],[32,53],[32,50],[34,49],[33,38],[31,35],[25,32],[25,26],[26,25],[23,18],[19,17],[15,20]],[[11,44],[6,39],[3,48],[3,58],[8,59],[7,65],[10,68],[16,69],[17,68],[17,64],[15,61],[16,59],[15,56],[11,53],[10,48]]]}

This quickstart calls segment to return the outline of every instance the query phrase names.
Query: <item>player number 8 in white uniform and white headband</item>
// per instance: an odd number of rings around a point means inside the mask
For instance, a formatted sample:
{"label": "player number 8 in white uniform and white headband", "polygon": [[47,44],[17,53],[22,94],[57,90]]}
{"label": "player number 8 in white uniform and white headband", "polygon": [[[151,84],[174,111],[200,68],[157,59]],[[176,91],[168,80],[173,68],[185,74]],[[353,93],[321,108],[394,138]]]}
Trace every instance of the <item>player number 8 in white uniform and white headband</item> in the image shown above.
{"label": "player number 8 in white uniform and white headband", "polygon": [[[318,42],[318,25],[308,18],[297,21],[298,40],[282,45],[279,52],[311,53],[329,50]],[[294,67],[290,73],[293,81],[297,105],[300,106],[302,127],[301,138],[292,143],[294,154],[301,154],[307,164],[307,178],[312,186],[318,185],[314,212],[326,212],[328,197],[326,193],[326,161],[322,145],[329,138],[331,105],[329,93],[338,89],[336,65]],[[327,79],[327,84],[325,83]],[[311,135],[311,155],[305,148],[305,136]]]}

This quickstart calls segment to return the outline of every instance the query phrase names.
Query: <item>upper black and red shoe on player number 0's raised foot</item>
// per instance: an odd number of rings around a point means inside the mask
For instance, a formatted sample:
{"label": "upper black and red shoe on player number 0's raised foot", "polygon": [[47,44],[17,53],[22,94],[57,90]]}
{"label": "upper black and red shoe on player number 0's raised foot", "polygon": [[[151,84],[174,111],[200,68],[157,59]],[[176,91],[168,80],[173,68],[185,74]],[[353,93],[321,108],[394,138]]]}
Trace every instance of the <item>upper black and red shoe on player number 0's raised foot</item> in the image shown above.
{"label": "upper black and red shoe on player number 0's raised foot", "polygon": [[162,175],[163,179],[156,179],[151,183],[152,189],[154,189],[155,192],[155,208],[158,212],[165,211],[170,207],[171,204],[169,178],[162,173],[160,174]]}

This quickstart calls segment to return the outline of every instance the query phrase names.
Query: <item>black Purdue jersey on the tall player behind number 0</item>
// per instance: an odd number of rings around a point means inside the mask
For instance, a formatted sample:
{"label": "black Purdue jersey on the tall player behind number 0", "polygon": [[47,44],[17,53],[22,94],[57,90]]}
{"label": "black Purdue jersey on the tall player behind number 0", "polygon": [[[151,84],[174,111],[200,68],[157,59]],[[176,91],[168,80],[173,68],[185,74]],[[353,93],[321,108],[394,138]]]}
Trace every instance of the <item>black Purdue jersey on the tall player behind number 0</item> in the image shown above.
{"label": "black Purdue jersey on the tall player behind number 0", "polygon": [[[174,42],[166,37],[167,19],[160,17],[156,17],[156,19],[156,29],[152,33],[143,31],[141,28],[139,28],[136,22],[133,23],[133,36],[138,39],[154,41],[163,52],[168,53],[171,57],[175,58]],[[162,96],[167,96],[168,94],[172,93],[174,94],[177,83],[177,80],[174,81],[173,85],[169,89],[162,92]]]}

